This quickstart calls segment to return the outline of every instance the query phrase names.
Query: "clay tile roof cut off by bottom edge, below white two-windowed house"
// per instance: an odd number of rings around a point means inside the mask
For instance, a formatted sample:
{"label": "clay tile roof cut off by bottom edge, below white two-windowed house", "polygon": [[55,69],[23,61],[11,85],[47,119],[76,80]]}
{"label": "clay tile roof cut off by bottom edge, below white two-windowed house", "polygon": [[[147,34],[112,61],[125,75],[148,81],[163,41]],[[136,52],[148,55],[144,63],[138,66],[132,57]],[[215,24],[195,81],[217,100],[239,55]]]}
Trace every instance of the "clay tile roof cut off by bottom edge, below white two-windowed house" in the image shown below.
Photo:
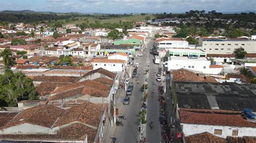
{"label": "clay tile roof cut off by bottom edge, below white two-windowed house", "polygon": [[193,134],[185,138],[188,143],[198,143],[198,142],[227,142],[224,138],[217,137],[211,133],[204,132]]}

